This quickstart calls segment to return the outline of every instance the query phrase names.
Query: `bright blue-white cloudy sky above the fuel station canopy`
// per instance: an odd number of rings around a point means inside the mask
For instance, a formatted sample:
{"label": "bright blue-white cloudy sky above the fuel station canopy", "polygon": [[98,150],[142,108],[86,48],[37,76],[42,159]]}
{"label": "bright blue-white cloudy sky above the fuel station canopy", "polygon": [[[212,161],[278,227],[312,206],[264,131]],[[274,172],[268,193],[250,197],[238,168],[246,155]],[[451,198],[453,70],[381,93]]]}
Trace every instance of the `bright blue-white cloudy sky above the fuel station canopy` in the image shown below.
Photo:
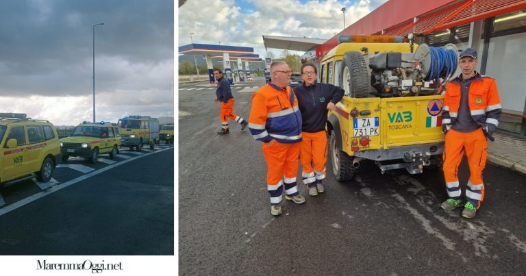
{"label": "bright blue-white cloudy sky above the fuel station canopy", "polygon": [[[187,0],[179,8],[178,45],[253,47],[265,56],[263,35],[329,39],[387,0]],[[281,55],[282,50],[268,49]],[[299,53],[303,54],[303,53]]]}

